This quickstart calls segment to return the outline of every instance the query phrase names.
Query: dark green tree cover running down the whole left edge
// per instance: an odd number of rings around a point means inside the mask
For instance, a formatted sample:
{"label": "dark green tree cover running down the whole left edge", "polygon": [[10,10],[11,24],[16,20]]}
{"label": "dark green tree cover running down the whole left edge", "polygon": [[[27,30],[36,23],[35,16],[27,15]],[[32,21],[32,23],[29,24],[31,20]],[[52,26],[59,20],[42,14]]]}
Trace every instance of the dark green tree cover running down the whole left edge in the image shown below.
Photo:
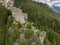
{"label": "dark green tree cover running down the whole left edge", "polygon": [[9,15],[11,15],[11,11],[0,5],[0,45],[5,45],[9,38],[6,27]]}

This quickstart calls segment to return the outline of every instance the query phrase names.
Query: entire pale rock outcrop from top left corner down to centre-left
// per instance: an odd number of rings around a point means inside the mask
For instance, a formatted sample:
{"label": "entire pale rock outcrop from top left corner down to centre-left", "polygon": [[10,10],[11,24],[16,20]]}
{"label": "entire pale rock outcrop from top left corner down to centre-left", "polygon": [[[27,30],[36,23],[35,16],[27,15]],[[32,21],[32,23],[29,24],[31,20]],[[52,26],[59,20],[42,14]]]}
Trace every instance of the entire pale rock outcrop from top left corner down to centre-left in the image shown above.
{"label": "entire pale rock outcrop from top left corner down to centre-left", "polygon": [[0,4],[12,11],[12,16],[17,22],[21,24],[26,22],[27,14],[23,13],[20,8],[13,7],[14,0],[0,0]]}

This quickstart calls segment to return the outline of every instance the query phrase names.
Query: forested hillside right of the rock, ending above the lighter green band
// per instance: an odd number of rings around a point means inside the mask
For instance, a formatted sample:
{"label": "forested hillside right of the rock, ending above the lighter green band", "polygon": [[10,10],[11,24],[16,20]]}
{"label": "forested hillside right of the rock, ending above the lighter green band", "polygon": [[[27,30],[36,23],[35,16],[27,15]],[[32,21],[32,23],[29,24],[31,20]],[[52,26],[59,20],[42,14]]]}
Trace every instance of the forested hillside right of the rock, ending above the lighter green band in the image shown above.
{"label": "forested hillside right of the rock, ending above the lighter green band", "polygon": [[[17,1],[20,2],[19,5]],[[49,29],[60,33],[60,15],[52,11],[48,5],[32,1],[17,1],[15,6],[20,6],[23,12],[28,13],[28,21],[33,22],[37,28],[40,28],[41,25],[47,26]]]}

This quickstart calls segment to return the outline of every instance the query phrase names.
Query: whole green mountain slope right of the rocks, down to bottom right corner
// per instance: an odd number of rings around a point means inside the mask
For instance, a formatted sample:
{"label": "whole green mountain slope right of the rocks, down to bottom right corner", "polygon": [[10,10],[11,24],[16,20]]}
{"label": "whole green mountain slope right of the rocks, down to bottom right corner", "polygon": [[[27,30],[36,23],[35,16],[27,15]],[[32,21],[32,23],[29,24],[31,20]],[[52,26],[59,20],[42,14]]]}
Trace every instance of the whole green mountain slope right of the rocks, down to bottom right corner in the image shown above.
{"label": "whole green mountain slope right of the rocks, down to bottom right corner", "polygon": [[48,5],[31,0],[15,0],[15,6],[28,13],[28,21],[47,32],[45,45],[60,45],[60,14]]}

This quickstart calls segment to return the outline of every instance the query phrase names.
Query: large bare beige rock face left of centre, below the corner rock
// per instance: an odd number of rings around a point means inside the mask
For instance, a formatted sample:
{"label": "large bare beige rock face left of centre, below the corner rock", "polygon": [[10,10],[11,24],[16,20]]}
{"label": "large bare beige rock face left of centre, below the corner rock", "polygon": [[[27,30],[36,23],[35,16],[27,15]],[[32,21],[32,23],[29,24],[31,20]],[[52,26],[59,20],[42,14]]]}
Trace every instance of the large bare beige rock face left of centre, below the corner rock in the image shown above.
{"label": "large bare beige rock face left of centre, below the corner rock", "polygon": [[27,14],[23,13],[20,8],[12,7],[10,8],[12,11],[13,18],[19,22],[20,24],[24,24],[27,20]]}

